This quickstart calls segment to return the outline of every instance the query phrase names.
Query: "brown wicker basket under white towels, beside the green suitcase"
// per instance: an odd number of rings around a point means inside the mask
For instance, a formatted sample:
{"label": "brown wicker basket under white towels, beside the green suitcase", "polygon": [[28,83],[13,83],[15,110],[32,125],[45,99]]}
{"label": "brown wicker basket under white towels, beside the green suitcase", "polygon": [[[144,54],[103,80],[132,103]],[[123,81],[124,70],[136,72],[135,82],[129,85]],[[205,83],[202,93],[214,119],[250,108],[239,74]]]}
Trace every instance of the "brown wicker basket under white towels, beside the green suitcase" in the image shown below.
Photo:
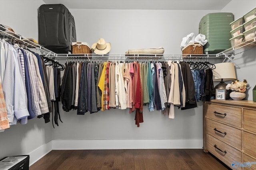
{"label": "brown wicker basket under white towels, beside the green suitcase", "polygon": [[[183,57],[190,56],[190,54],[203,54],[204,48],[199,43],[189,43],[185,47],[182,48]],[[196,55],[194,55],[196,56]]]}

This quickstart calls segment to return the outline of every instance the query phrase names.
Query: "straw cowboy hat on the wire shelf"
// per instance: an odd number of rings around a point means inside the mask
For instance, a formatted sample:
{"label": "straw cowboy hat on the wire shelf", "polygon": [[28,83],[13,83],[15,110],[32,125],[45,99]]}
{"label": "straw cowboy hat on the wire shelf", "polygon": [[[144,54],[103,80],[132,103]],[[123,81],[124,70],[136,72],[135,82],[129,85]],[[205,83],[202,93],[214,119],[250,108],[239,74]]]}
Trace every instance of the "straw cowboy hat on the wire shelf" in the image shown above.
{"label": "straw cowboy hat on the wire shelf", "polygon": [[103,38],[100,38],[97,43],[92,44],[92,52],[95,54],[107,54],[111,49],[111,44],[106,43]]}

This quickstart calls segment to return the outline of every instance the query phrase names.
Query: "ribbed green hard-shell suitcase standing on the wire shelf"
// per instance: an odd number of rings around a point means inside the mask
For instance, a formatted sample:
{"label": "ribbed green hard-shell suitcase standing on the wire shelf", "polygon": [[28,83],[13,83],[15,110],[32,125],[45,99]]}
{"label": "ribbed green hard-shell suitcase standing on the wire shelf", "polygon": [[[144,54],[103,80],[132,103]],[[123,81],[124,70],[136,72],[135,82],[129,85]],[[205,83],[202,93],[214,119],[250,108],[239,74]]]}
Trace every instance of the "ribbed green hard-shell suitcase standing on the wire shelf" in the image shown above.
{"label": "ribbed green hard-shell suitcase standing on the wire shelf", "polygon": [[204,53],[217,54],[231,47],[229,39],[230,25],[234,15],[228,12],[210,13],[199,23],[199,33],[205,35],[208,43],[204,45]]}

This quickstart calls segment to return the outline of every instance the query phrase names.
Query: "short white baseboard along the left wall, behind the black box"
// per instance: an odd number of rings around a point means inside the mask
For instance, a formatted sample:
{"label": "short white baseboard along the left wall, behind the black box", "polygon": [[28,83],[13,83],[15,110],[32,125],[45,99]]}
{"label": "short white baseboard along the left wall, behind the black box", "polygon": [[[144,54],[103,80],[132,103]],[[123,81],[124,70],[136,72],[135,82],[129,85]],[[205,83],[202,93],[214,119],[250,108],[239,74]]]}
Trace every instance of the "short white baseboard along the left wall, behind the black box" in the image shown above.
{"label": "short white baseboard along the left wall, behind the black box", "polygon": [[44,155],[48,154],[52,150],[52,141],[40,146],[39,148],[33,150],[32,152],[28,153],[30,156],[29,159],[29,166],[34,164],[36,161],[41,159]]}

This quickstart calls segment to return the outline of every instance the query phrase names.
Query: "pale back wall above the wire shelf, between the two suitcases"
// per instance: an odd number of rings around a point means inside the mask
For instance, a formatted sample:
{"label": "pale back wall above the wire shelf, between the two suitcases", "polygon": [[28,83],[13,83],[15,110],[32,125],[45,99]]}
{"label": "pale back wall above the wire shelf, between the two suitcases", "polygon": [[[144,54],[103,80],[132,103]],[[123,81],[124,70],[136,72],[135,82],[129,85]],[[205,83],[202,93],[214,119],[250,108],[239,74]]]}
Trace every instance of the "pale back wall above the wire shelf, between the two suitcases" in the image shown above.
{"label": "pale back wall above the wire shelf, between the two suitcases", "polygon": [[182,37],[192,32],[198,35],[202,16],[216,11],[70,9],[70,12],[76,22],[77,41],[92,45],[104,38],[111,43],[112,54],[160,46],[166,54],[180,54]]}

